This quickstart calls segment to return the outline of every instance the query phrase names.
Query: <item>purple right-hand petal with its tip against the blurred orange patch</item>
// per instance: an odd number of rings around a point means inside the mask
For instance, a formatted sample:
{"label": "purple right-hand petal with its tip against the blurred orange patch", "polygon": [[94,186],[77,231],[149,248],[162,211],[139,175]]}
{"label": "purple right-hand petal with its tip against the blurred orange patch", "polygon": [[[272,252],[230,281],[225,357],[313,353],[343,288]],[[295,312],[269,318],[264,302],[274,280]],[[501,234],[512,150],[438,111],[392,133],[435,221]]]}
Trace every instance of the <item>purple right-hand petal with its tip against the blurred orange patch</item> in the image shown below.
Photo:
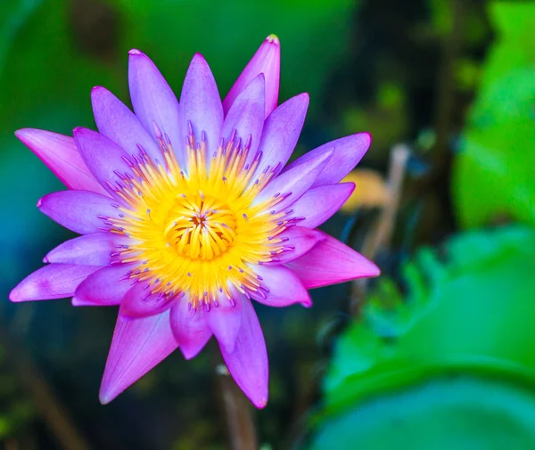
{"label": "purple right-hand petal with its tip against the blurred orange patch", "polygon": [[312,188],[292,203],[292,216],[305,217],[300,221],[300,226],[316,228],[342,208],[354,189],[354,183],[325,184]]}

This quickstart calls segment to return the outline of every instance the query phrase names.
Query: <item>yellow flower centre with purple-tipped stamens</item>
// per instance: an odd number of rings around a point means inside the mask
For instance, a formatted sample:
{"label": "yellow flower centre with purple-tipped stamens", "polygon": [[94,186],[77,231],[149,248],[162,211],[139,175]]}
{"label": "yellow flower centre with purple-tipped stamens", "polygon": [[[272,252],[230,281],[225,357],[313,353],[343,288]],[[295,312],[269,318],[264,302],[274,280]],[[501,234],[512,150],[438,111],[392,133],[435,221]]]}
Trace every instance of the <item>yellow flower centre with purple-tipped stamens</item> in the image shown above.
{"label": "yellow flower centre with purple-tipped stamens", "polygon": [[111,232],[132,242],[118,257],[131,263],[128,276],[149,283],[152,294],[185,295],[193,307],[217,305],[221,295],[232,303],[232,286],[261,291],[254,267],[288,250],[278,235],[295,221],[275,212],[283,195],[252,204],[275,169],[253,179],[260,155],[249,157],[234,138],[209,158],[204,140],[190,135],[186,168],[169,142],[160,145],[162,161],[143,153],[115,188],[124,206],[110,218]]}

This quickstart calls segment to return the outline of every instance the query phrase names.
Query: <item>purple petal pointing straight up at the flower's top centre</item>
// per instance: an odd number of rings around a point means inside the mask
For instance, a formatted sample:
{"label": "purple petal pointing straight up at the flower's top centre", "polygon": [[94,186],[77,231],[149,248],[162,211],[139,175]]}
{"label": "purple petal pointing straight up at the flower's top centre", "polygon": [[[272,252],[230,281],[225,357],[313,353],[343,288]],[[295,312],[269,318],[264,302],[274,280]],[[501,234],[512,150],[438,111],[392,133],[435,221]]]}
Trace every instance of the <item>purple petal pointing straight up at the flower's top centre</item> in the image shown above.
{"label": "purple petal pointing straight up at the flower's top centre", "polygon": [[[221,127],[223,127],[223,106],[219,97],[216,80],[208,63],[199,53],[185,74],[184,86],[180,95],[181,113],[184,114],[184,129],[191,121],[193,133],[198,142],[204,132],[208,154],[218,150]],[[210,159],[208,159],[210,160]]]}

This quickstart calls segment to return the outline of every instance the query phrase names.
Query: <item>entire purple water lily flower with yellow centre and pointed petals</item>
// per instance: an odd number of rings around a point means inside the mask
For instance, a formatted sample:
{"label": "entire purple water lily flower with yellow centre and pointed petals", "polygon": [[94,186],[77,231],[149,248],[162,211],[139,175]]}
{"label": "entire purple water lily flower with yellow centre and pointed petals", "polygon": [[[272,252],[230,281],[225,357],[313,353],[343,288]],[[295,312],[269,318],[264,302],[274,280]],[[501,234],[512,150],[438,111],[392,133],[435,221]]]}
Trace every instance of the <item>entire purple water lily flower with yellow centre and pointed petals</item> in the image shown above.
{"label": "entire purple water lily flower with yellow centre and pointed petals", "polygon": [[353,191],[339,182],[370,136],[326,143],[286,165],[309,96],[277,106],[279,61],[270,36],[221,102],[196,54],[178,102],[152,61],[132,50],[134,112],[95,87],[98,133],[16,132],[69,188],[37,207],[81,235],[50,251],[10,299],[119,306],[103,404],[177,348],[193,358],[214,335],[236,383],[263,407],[268,355],[251,300],[309,307],[310,288],[379,274],[316,229]]}

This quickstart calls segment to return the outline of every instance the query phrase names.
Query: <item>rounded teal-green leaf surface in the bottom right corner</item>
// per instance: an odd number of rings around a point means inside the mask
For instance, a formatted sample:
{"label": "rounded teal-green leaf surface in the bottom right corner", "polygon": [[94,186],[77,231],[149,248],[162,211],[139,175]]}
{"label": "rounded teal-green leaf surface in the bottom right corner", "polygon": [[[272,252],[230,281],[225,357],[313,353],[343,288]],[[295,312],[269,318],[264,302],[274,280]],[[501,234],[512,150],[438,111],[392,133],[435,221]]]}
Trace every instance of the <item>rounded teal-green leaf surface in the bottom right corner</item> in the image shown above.
{"label": "rounded teal-green leaf surface in the bottom right corner", "polygon": [[369,400],[325,422],[309,450],[531,450],[531,389],[462,376]]}

